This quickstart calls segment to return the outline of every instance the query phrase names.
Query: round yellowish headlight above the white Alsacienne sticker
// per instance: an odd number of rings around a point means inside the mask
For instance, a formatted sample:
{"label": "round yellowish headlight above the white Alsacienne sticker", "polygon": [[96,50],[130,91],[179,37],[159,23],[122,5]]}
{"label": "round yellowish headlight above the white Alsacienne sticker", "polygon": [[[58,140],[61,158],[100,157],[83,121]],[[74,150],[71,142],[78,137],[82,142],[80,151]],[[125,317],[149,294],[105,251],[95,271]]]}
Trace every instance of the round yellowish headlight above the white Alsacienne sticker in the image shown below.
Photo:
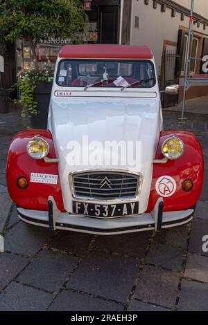
{"label": "round yellowish headlight above the white Alsacienne sticker", "polygon": [[49,144],[43,138],[36,136],[28,142],[28,155],[34,159],[42,159],[49,154]]}

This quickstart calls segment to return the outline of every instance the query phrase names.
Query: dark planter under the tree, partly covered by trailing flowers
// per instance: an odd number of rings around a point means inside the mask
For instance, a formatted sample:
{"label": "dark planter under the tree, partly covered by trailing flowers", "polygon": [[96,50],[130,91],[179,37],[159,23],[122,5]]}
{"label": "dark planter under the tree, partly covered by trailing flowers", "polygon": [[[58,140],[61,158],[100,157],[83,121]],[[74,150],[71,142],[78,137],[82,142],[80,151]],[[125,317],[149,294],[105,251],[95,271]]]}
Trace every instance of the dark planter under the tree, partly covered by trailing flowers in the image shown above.
{"label": "dark planter under the tree, partly covered by trailing flowers", "polygon": [[30,118],[33,129],[47,129],[51,89],[52,83],[37,82],[37,87],[34,90],[34,101],[37,102],[38,113]]}

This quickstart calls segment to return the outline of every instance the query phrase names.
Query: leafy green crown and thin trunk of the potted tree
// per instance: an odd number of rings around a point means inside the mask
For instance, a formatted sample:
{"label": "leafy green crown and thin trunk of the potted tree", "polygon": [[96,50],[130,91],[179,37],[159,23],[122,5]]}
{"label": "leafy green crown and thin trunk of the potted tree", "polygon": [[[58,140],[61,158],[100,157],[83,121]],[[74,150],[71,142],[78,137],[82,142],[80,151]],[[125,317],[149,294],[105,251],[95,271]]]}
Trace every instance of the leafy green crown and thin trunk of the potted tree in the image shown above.
{"label": "leafy green crown and thin trunk of the potted tree", "polygon": [[76,42],[84,22],[80,0],[0,0],[0,35],[10,41],[28,41],[36,70],[37,44],[49,37],[71,37]]}

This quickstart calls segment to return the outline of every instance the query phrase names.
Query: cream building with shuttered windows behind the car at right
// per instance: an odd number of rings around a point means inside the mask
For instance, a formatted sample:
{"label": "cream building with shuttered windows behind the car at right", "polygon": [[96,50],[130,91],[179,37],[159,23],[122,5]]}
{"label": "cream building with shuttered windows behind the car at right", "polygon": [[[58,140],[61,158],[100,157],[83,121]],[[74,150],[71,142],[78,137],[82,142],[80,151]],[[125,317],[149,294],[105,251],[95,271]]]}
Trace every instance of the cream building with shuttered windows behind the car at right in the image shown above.
{"label": "cream building with shuttered windows behind the car at right", "polygon": [[[130,44],[149,46],[155,55],[161,89],[179,82],[182,100],[184,64],[191,0],[132,0]],[[199,60],[208,55],[208,2],[195,0],[189,74],[202,73]],[[198,58],[198,59],[196,59]],[[187,98],[208,95],[208,85],[196,85]],[[166,103],[168,104],[168,102]]]}

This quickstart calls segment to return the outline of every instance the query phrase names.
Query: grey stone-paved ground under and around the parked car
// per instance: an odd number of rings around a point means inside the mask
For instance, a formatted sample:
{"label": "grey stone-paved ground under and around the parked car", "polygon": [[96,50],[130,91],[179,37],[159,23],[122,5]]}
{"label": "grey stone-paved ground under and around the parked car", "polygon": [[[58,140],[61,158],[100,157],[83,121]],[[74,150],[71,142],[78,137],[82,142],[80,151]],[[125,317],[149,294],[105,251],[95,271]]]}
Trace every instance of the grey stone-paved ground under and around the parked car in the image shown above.
{"label": "grey stone-paved ground under and around the parked car", "polygon": [[208,115],[187,114],[185,124],[178,117],[164,111],[165,128],[196,133],[205,154],[193,222],[157,234],[93,236],[49,232],[18,220],[5,166],[12,135],[22,127],[16,113],[0,115],[0,221],[8,214],[0,310],[208,310],[208,253],[202,252],[208,234]]}

